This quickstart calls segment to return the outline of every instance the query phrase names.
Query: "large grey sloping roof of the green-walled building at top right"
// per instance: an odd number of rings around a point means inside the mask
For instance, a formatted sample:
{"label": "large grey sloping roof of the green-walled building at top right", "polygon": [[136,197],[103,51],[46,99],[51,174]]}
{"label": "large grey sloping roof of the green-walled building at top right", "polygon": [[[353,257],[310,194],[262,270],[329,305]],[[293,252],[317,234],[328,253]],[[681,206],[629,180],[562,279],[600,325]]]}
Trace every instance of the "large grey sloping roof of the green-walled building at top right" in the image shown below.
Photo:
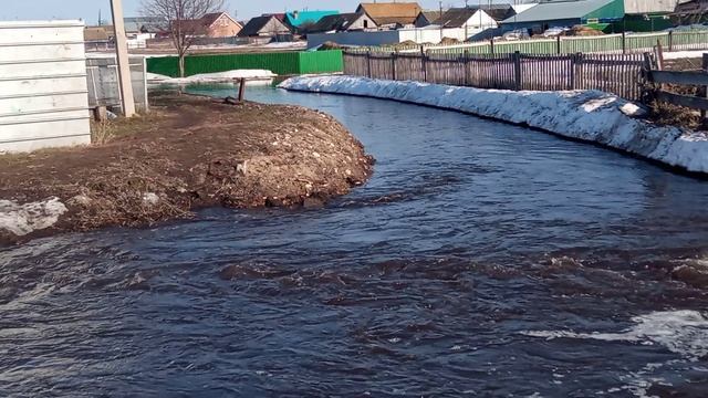
{"label": "large grey sloping roof of the green-walled building at top right", "polygon": [[581,19],[614,0],[546,0],[503,20],[503,23]]}

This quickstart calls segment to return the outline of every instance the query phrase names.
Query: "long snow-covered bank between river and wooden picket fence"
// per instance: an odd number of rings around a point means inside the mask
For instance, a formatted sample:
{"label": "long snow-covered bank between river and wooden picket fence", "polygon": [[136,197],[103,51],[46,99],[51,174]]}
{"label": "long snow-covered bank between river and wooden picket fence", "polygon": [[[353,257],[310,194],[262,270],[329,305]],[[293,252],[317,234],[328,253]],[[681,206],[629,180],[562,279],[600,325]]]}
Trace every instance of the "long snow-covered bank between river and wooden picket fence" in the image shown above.
{"label": "long snow-covered bank between river and wooden picket fence", "polygon": [[512,92],[353,76],[300,76],[280,87],[362,95],[461,111],[598,143],[689,171],[708,172],[704,133],[656,126],[636,105],[598,91]]}

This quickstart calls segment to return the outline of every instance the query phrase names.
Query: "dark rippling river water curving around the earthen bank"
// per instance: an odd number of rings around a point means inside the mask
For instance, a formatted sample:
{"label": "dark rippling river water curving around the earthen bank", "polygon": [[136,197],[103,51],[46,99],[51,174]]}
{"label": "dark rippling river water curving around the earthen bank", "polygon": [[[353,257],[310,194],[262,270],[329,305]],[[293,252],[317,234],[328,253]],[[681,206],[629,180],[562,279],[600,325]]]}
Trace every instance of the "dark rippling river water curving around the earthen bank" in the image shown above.
{"label": "dark rippling river water curving around the earthen bank", "polygon": [[0,396],[708,391],[708,184],[451,112],[248,95],[336,116],[372,180],[0,249]]}

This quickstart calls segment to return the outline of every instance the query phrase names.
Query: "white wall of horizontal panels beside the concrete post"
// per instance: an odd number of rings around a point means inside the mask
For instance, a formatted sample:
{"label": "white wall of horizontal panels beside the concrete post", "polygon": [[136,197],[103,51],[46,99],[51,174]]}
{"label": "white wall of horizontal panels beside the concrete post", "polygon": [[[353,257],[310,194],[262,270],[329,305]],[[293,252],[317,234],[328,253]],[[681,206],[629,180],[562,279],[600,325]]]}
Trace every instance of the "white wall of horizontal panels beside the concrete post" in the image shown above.
{"label": "white wall of horizontal panels beside the concrete post", "polygon": [[83,30],[0,22],[0,151],[91,143]]}

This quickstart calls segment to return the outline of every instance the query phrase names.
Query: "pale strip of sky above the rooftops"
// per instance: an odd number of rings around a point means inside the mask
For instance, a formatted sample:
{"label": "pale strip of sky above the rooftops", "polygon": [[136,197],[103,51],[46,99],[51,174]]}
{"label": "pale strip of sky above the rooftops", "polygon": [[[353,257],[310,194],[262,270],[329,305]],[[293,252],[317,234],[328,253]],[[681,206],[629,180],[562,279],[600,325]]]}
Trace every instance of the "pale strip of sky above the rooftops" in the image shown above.
{"label": "pale strip of sky above the rooftops", "polygon": [[[125,17],[139,14],[143,0],[123,0]],[[413,0],[412,0],[413,1]],[[470,4],[479,0],[470,0]],[[487,1],[487,0],[485,0]],[[283,10],[339,10],[353,12],[361,0],[228,0],[226,11],[237,19],[249,19],[263,12],[282,12]],[[438,0],[418,0],[425,9],[437,9]],[[464,6],[464,0],[444,0],[444,7]],[[48,19],[82,19],[87,24],[96,23],[98,11],[103,19],[111,18],[110,0],[0,0],[0,20],[48,20]]]}

